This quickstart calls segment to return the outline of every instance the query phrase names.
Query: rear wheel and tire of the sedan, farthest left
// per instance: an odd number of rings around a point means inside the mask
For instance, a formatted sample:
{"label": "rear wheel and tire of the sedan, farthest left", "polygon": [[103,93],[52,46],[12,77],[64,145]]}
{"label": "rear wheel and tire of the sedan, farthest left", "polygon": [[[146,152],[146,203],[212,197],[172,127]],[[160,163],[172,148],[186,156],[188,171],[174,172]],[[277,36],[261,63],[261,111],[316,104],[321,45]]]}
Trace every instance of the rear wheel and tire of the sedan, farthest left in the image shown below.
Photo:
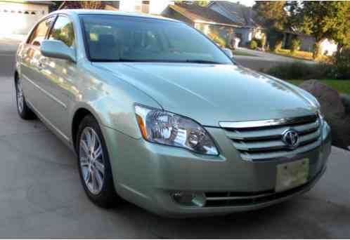
{"label": "rear wheel and tire of the sedan, farthest left", "polygon": [[37,118],[32,109],[30,109],[30,107],[27,105],[27,101],[25,100],[25,95],[23,93],[22,81],[20,79],[15,80],[15,99],[18,115],[20,115],[22,119],[31,120]]}

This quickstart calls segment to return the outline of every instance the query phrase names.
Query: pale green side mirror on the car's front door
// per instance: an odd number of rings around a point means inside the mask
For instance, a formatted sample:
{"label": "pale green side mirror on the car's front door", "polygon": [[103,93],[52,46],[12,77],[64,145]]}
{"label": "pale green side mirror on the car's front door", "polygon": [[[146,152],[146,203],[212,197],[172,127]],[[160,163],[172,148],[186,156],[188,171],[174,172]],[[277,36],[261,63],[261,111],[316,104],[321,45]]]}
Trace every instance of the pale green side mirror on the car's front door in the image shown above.
{"label": "pale green side mirror on the car's front door", "polygon": [[41,42],[41,54],[49,58],[60,58],[76,62],[75,51],[62,41],[44,40]]}

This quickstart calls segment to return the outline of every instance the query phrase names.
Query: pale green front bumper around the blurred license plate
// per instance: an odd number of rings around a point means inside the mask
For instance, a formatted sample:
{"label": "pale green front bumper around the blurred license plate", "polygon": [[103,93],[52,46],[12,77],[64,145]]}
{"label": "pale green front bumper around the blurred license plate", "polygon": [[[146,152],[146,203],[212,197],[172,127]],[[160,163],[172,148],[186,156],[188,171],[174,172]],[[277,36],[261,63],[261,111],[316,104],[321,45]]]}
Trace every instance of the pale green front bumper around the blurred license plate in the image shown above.
{"label": "pale green front bumper around the blurred license plate", "polygon": [[[252,211],[309,191],[325,172],[331,149],[328,136],[320,147],[303,154],[273,161],[244,161],[220,128],[208,128],[207,131],[219,142],[219,156],[202,156],[186,149],[156,145],[103,128],[118,194],[168,217]],[[310,161],[309,182],[276,194],[273,190],[276,166],[304,158]],[[171,197],[179,191],[242,194],[242,201],[228,201],[226,206],[183,206]]]}

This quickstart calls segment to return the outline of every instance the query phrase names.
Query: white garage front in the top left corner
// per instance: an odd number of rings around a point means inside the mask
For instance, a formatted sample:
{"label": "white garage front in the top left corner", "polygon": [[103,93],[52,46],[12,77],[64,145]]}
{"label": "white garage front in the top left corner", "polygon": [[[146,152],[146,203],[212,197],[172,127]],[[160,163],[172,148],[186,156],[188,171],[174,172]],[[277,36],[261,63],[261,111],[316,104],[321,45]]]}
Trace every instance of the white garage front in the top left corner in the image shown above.
{"label": "white garage front in the top left corner", "polygon": [[37,20],[48,14],[51,1],[0,1],[0,34],[27,34]]}

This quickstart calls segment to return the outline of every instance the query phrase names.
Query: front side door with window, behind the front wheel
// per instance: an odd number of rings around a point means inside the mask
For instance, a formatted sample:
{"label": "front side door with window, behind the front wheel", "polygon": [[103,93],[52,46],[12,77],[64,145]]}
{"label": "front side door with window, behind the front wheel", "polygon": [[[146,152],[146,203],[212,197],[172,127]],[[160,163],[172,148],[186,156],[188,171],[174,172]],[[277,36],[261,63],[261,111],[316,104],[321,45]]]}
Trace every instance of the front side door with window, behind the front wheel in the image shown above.
{"label": "front side door with window, behind the front wheel", "polygon": [[[65,15],[59,15],[48,34],[49,40],[63,41],[68,47],[75,49],[74,27],[70,19]],[[48,121],[56,127],[67,140],[69,135],[67,107],[68,98],[72,89],[72,76],[76,71],[76,64],[70,60],[48,58],[41,56],[42,75],[39,86],[48,93],[46,101],[42,102],[40,109]]]}

